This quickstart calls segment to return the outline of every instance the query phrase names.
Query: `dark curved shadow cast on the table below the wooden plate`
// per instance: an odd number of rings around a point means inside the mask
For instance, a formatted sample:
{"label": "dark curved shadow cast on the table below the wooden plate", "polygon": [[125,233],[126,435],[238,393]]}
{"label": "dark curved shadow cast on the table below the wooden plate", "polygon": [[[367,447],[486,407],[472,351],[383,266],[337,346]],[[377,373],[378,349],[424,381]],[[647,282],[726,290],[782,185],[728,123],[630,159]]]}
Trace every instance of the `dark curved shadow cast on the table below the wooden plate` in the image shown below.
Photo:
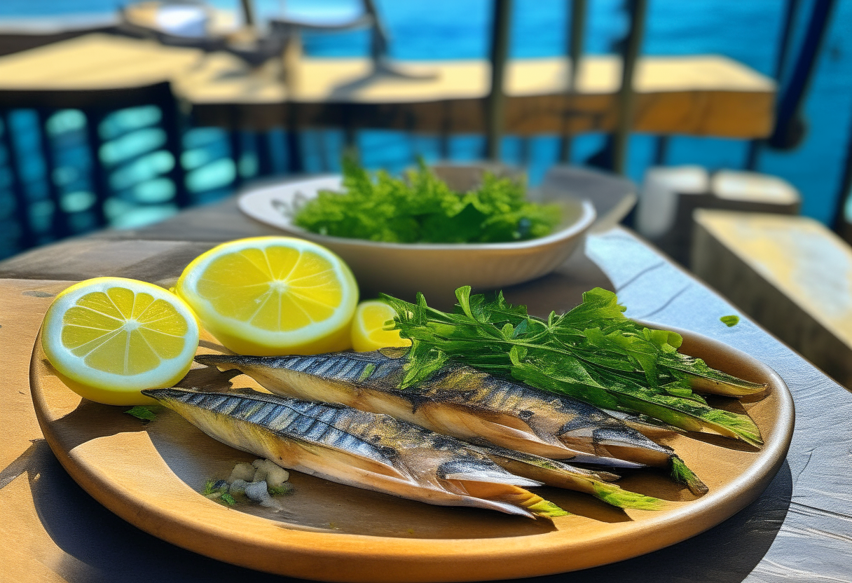
{"label": "dark curved shadow cast on the table below the wooden plate", "polygon": [[[186,583],[240,580],[245,576],[253,583],[296,581],[196,555],[124,522],[73,482],[44,440],[33,442],[0,471],[0,488],[24,473],[43,528],[67,553],[53,568],[69,583]],[[716,528],[621,563],[528,581],[739,583],[769,550],[791,498],[792,475],[785,462],[760,499]]]}

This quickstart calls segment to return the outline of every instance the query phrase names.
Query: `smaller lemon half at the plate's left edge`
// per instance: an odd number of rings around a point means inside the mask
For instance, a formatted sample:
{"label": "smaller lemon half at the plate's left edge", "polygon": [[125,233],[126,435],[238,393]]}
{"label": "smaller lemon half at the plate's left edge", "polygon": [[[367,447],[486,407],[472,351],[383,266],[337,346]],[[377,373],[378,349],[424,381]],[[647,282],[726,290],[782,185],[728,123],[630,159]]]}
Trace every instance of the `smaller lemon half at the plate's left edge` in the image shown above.
{"label": "smaller lemon half at the plate's left edge", "polygon": [[170,291],[99,277],[67,288],[50,304],[42,346],[78,395],[107,405],[153,404],[139,391],[183,378],[199,347],[199,325]]}

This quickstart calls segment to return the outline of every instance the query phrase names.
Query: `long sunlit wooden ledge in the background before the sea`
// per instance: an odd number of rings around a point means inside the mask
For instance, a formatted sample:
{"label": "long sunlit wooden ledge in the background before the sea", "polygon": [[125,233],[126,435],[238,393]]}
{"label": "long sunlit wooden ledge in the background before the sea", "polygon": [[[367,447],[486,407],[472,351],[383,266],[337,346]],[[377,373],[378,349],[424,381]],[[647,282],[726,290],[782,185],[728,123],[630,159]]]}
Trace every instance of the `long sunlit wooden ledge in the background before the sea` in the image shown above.
{"label": "long sunlit wooden ledge in the background before the sea", "polygon": [[[577,95],[567,91],[570,61],[509,61],[506,131],[510,134],[613,130],[620,61],[590,55]],[[375,75],[366,59],[304,58],[251,70],[226,53],[164,47],[153,41],[91,34],[0,58],[0,106],[67,107],[89,92],[169,81],[199,124],[266,129],[348,126],[447,133],[484,130],[487,61],[400,63],[429,79]],[[286,78],[287,83],[282,79]],[[725,57],[653,57],[636,70],[634,129],[739,138],[772,129],[774,82]],[[78,95],[72,95],[78,94]],[[77,101],[75,101],[77,103]],[[82,106],[78,106],[82,107]]]}

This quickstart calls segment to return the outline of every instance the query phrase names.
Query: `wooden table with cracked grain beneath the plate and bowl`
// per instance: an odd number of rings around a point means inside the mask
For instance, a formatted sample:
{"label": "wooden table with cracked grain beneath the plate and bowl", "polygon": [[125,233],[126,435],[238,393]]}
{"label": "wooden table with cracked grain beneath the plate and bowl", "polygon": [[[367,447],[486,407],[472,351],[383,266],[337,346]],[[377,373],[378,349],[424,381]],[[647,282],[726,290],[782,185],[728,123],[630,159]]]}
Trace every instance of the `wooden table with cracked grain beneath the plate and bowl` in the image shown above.
{"label": "wooden table with cracked grain beneath the plate and bowl", "polygon": [[[151,228],[101,232],[0,263],[0,343],[9,365],[0,385],[0,580],[282,580],[155,539],[72,482],[41,438],[32,409],[27,368],[36,326],[16,318],[43,313],[68,280],[113,274],[167,283],[217,242],[271,232],[240,216],[231,199]],[[507,296],[546,314],[570,308],[596,285],[618,291],[632,317],[701,332],[774,367],[794,395],[796,432],[766,492],[716,528],[643,557],[536,580],[852,581],[852,395],[746,318],[724,326],[719,317],[735,313],[730,304],[624,228],[591,235],[585,255]]]}

